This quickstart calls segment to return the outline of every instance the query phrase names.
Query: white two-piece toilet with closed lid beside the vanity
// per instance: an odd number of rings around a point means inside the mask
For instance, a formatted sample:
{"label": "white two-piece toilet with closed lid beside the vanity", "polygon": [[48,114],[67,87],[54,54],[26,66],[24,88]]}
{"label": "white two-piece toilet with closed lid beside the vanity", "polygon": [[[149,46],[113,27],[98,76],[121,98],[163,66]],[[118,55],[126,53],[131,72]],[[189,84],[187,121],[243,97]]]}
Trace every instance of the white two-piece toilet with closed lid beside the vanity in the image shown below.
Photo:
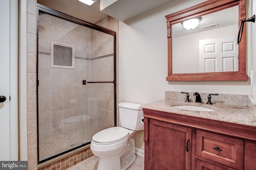
{"label": "white two-piece toilet with closed lid beside the vanity", "polygon": [[126,170],[135,160],[134,133],[143,130],[140,104],[118,104],[122,127],[110,127],[92,137],[90,149],[100,157],[97,170]]}

